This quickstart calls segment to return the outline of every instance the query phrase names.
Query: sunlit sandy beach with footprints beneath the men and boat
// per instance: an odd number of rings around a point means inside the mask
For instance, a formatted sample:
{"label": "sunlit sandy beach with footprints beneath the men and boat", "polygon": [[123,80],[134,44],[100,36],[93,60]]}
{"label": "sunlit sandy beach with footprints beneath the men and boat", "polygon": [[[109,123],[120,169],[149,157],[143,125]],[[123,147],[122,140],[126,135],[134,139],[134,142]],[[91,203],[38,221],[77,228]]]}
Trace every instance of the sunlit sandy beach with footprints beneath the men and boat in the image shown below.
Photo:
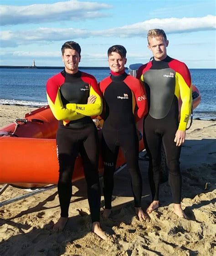
{"label": "sunlit sandy beach with footprints beneath the men and boat", "polygon": [[[0,105],[0,127],[35,108]],[[12,159],[12,156],[11,156]],[[62,233],[52,231],[60,215],[57,188],[0,208],[0,256],[213,256],[216,246],[216,122],[194,120],[181,153],[182,206],[190,220],[173,213],[168,181],[160,187],[161,206],[139,221],[134,214],[127,168],[114,179],[113,211],[101,224],[106,241],[91,232],[84,180],[73,184],[69,221]],[[151,196],[148,162],[139,161],[143,176],[142,207]],[[102,185],[102,179],[100,179]],[[0,185],[2,187],[3,185]],[[0,202],[27,193],[8,187]],[[103,195],[101,198],[103,207]],[[103,208],[101,208],[103,211]]]}

